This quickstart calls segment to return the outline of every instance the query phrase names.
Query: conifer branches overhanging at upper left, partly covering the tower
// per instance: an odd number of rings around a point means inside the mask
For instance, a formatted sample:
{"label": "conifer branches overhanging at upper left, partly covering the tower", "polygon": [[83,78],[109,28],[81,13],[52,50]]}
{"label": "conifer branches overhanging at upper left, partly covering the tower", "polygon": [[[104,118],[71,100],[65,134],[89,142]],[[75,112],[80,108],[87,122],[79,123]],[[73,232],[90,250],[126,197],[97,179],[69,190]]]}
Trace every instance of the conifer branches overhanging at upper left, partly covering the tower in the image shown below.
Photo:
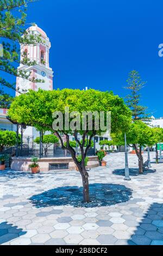
{"label": "conifer branches overhanging at upper left, partly covering the tower", "polygon": [[[0,1],[0,38],[2,47],[0,49],[0,86],[1,86],[1,102],[8,101],[5,107],[9,107],[11,97],[3,93],[3,87],[8,87],[16,90],[16,83],[11,83],[10,78],[6,80],[4,74],[9,74],[11,77],[22,77],[33,83],[44,82],[31,76],[31,72],[26,70],[17,70],[17,65],[35,65],[35,61],[31,61],[27,53],[22,53],[20,61],[20,44],[21,45],[36,45],[41,42],[40,36],[30,34],[26,31],[27,4],[34,0],[1,0]],[[23,36],[22,36],[23,35]],[[20,92],[19,88],[17,91]],[[3,107],[3,104],[1,105]]]}

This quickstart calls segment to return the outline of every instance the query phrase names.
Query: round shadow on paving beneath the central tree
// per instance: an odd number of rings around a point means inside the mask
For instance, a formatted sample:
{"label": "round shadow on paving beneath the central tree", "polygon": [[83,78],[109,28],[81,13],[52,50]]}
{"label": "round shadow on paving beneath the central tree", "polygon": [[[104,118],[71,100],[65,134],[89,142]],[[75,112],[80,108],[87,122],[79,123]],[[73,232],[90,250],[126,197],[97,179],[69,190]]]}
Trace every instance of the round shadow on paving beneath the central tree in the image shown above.
{"label": "round shadow on paving beneath the central tree", "polygon": [[36,208],[47,206],[72,205],[74,207],[99,207],[127,202],[132,190],[119,184],[90,184],[89,204],[82,203],[83,187],[65,186],[36,194],[29,198]]}

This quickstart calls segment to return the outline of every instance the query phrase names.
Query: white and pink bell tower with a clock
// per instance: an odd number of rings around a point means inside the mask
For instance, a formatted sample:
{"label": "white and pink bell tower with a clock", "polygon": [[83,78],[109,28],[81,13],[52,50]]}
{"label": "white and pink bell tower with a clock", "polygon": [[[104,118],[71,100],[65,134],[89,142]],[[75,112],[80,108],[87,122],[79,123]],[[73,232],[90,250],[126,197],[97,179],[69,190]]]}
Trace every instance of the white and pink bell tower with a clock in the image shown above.
{"label": "white and pink bell tower with a clock", "polygon": [[[49,67],[49,49],[51,48],[51,42],[46,33],[37,25],[31,26],[27,29],[29,34],[40,35],[41,42],[36,45],[21,45],[21,59],[24,53],[27,57],[36,62],[34,66],[28,66],[20,64],[18,70],[25,70],[27,74],[29,72],[30,78],[37,78],[44,80],[45,83],[33,83],[28,80],[24,80],[21,77],[16,79],[16,88],[23,92],[23,90],[53,90],[53,70]],[[18,93],[16,93],[18,95]]]}

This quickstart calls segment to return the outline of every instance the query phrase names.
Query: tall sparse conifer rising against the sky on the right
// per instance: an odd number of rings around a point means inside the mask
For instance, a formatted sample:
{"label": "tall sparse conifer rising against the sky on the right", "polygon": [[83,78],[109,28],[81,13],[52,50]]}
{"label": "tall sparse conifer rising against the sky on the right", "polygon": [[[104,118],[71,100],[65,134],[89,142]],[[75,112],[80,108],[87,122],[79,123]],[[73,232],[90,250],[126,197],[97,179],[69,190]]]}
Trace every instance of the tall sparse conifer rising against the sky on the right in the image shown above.
{"label": "tall sparse conifer rising against the sky on the right", "polygon": [[131,109],[134,120],[147,119],[146,110],[147,107],[140,105],[141,94],[140,90],[145,86],[146,82],[141,80],[139,72],[133,70],[129,73],[127,80],[127,87],[125,89],[130,90],[130,94],[126,96],[127,105]]}

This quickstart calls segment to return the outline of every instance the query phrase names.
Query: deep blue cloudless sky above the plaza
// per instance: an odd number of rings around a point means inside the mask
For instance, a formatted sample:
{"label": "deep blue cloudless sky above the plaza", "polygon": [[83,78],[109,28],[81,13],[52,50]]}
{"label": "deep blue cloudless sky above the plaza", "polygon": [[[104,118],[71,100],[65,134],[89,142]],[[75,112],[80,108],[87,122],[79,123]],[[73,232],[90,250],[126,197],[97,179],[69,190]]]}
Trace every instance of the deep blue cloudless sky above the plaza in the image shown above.
{"label": "deep blue cloudless sky above the plaza", "polygon": [[29,5],[35,22],[52,43],[53,87],[123,89],[130,70],[147,81],[142,104],[163,116],[163,2],[146,0],[40,0]]}

